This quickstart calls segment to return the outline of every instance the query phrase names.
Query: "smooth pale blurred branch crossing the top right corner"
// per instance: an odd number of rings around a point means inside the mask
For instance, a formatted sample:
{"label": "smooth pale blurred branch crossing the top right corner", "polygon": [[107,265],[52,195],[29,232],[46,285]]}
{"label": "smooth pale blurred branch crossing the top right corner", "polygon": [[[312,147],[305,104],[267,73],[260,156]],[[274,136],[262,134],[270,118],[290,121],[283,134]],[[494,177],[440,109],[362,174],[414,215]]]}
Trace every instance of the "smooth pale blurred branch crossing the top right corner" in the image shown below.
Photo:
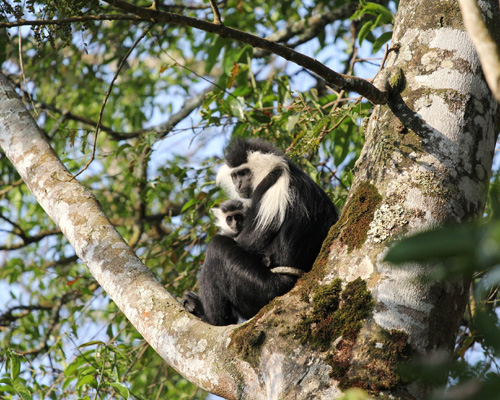
{"label": "smooth pale blurred branch crossing the top right corner", "polygon": [[477,50],[488,86],[500,102],[500,55],[476,0],[459,0],[465,29]]}

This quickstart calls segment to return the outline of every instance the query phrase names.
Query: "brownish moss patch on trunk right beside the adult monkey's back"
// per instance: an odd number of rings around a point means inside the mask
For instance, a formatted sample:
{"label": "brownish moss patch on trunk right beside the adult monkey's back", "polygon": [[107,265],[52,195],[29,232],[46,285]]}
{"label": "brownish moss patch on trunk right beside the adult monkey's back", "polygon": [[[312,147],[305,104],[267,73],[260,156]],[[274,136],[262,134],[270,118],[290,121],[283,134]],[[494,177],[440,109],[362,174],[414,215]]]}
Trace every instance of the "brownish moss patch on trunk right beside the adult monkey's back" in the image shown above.
{"label": "brownish moss patch on trunk right beside the adult monkey's back", "polygon": [[360,248],[366,241],[370,223],[381,201],[377,188],[369,182],[362,182],[330,231],[331,237],[346,244],[349,251]]}

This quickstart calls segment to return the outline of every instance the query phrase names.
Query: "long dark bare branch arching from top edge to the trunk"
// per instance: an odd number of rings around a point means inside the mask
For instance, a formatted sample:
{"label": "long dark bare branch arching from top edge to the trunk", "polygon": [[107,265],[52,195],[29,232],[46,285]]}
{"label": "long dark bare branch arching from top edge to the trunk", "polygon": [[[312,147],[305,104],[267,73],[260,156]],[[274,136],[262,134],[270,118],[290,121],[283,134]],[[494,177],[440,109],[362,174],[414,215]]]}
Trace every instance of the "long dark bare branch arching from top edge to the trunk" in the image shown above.
{"label": "long dark bare branch arching from top edge to the trunk", "polygon": [[151,19],[158,23],[170,23],[200,29],[205,32],[214,33],[223,38],[237,40],[252,47],[269,51],[273,54],[283,57],[288,61],[292,61],[295,64],[310,70],[311,72],[314,72],[335,87],[344,89],[346,91],[357,92],[366,97],[374,104],[387,103],[389,97],[388,92],[380,91],[370,82],[356,76],[339,74],[338,72],[333,71],[318,60],[315,60],[314,58],[308,57],[302,53],[299,53],[293,49],[290,49],[268,39],[263,39],[261,37],[237,29],[229,28],[223,24],[215,24],[197,18],[191,18],[183,15],[138,7],[123,0],[105,1],[122,11],[127,11],[129,13],[135,14],[140,18]]}

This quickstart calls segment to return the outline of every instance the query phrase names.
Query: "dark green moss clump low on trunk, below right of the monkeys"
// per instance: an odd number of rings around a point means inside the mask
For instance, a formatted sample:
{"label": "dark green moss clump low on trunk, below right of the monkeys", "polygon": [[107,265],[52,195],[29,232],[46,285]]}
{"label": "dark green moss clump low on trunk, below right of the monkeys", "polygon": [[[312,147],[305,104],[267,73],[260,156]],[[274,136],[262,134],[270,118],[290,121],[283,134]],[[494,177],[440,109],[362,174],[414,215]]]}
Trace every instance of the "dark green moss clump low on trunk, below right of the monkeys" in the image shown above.
{"label": "dark green moss clump low on trunk, below right of the monkeys", "polygon": [[372,296],[360,278],[349,282],[343,291],[341,287],[339,278],[321,286],[313,296],[311,313],[303,315],[302,321],[287,334],[320,351],[330,349],[340,336],[355,339],[373,308]]}

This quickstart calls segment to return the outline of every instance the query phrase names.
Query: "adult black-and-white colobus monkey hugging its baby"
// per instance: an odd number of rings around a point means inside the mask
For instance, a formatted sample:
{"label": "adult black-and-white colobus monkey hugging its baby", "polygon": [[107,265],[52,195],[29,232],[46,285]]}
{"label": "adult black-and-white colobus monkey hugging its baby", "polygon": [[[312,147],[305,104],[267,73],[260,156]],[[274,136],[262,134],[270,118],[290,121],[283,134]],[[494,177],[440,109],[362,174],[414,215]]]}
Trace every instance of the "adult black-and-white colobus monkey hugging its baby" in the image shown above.
{"label": "adult black-and-white colobus monkey hugging its baby", "polygon": [[[297,281],[271,266],[307,272],[338,214],[314,181],[273,145],[233,140],[217,183],[229,196],[250,200],[237,239],[216,235],[200,272],[200,296],[188,292],[186,310],[212,325],[253,317]],[[266,263],[263,260],[268,260]]]}

